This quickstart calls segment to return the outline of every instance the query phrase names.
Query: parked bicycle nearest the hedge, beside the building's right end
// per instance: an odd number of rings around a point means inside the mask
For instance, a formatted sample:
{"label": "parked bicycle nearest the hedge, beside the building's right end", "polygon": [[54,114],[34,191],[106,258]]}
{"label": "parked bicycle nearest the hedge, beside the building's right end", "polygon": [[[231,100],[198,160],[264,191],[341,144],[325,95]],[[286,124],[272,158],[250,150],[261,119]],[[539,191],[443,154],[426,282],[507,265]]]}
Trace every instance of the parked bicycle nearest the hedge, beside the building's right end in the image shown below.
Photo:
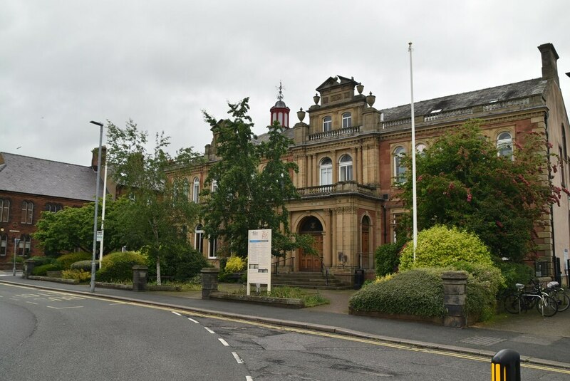
{"label": "parked bicycle nearest the hedge, beside the building's right end", "polygon": [[540,284],[535,283],[532,290],[525,291],[524,284],[515,285],[517,291],[504,298],[504,309],[509,313],[527,312],[536,307],[543,316],[553,316],[558,312],[558,303],[546,292],[541,290]]}

